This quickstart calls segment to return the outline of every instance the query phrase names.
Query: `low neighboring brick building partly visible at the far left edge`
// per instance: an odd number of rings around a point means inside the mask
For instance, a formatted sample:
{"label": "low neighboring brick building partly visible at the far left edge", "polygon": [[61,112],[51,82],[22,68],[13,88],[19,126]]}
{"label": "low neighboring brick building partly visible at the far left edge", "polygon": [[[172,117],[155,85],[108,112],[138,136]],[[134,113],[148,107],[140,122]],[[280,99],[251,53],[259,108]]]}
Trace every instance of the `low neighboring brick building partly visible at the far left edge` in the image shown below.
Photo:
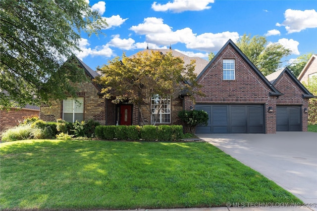
{"label": "low neighboring brick building partly visible at the far left edge", "polygon": [[10,108],[9,110],[0,110],[0,132],[4,129],[17,126],[23,122],[26,116],[40,115],[38,106],[26,105],[22,109]]}

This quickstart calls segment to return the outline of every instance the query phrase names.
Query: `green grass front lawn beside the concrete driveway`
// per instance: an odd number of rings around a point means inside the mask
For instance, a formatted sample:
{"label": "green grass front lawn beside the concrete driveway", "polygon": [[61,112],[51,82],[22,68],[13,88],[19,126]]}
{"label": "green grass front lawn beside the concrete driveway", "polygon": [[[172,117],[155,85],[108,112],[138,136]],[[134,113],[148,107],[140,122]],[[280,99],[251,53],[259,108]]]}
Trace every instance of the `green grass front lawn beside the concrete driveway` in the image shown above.
{"label": "green grass front lawn beside the concrete driveway", "polygon": [[302,203],[206,142],[25,140],[0,156],[1,209]]}

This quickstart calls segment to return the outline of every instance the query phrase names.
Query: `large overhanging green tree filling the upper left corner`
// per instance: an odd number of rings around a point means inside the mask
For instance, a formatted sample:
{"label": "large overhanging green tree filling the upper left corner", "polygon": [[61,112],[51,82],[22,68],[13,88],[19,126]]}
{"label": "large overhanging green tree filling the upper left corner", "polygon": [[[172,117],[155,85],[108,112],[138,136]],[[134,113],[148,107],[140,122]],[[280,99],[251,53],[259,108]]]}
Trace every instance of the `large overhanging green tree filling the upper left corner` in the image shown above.
{"label": "large overhanging green tree filling the upper left corner", "polygon": [[84,71],[66,58],[106,21],[85,0],[1,0],[1,109],[76,96]]}

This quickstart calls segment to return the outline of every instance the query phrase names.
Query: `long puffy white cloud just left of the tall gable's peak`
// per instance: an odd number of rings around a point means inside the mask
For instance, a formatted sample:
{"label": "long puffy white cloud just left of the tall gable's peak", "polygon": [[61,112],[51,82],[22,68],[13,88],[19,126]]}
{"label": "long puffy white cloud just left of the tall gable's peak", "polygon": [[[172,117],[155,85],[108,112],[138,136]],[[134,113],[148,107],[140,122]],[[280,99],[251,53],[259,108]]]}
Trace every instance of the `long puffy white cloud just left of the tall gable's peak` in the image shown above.
{"label": "long puffy white cloud just left of the tall gable's peak", "polygon": [[233,42],[239,39],[237,32],[197,35],[190,28],[172,31],[172,27],[164,24],[163,19],[155,17],[145,18],[143,23],[132,26],[130,30],[137,34],[145,35],[146,42],[154,43],[158,46],[181,42],[185,43],[187,48],[209,52],[219,50],[229,39]]}

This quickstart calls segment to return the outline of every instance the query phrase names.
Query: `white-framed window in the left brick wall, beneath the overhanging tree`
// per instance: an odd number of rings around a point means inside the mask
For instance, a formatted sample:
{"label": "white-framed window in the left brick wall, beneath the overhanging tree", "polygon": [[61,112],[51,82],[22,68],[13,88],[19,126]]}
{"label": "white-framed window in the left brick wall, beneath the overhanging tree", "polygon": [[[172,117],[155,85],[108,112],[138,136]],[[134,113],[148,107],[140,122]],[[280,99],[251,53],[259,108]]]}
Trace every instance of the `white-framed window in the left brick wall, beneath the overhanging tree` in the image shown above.
{"label": "white-framed window in the left brick wall, beneath the overhanging tree", "polygon": [[74,123],[76,120],[81,122],[84,120],[84,98],[78,97],[76,100],[67,97],[63,101],[63,120]]}

